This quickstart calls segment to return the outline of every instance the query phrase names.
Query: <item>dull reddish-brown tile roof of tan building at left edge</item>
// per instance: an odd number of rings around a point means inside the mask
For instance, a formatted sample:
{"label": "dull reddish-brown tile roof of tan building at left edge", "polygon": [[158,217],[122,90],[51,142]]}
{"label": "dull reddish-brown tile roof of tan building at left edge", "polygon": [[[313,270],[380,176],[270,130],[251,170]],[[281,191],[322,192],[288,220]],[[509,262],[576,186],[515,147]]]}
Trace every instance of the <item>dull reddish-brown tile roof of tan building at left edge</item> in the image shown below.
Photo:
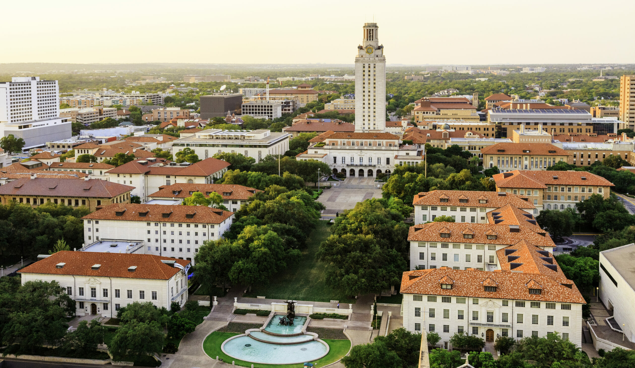
{"label": "dull reddish-brown tile roof of tan building at left edge", "polygon": [[113,198],[130,192],[134,188],[98,179],[22,178],[1,186],[0,195]]}

